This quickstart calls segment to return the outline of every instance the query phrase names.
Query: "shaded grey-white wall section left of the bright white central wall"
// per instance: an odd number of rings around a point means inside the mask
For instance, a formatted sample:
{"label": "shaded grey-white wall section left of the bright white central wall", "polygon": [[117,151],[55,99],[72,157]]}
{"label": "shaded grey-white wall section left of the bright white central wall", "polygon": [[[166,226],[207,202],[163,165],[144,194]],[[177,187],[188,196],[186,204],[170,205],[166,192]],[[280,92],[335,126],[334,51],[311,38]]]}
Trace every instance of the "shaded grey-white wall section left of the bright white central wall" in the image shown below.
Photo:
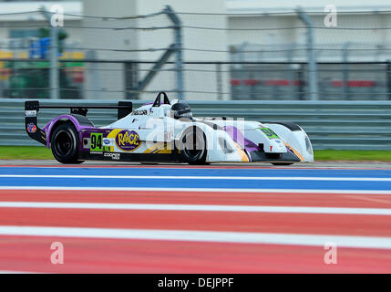
{"label": "shaded grey-white wall section left of the bright white central wall", "polygon": [[[134,16],[137,14],[136,1],[129,0],[85,0],[83,14],[86,16]],[[87,27],[135,26],[134,20],[112,20],[83,18],[83,47],[95,50],[95,58],[103,60],[137,59],[134,52],[114,50],[137,49],[135,30],[90,29]],[[98,50],[105,48],[108,50]],[[113,49],[110,51],[109,49]],[[87,57],[91,57],[88,55]],[[86,72],[85,98],[124,99],[125,93],[123,66],[121,64],[89,64]]]}

